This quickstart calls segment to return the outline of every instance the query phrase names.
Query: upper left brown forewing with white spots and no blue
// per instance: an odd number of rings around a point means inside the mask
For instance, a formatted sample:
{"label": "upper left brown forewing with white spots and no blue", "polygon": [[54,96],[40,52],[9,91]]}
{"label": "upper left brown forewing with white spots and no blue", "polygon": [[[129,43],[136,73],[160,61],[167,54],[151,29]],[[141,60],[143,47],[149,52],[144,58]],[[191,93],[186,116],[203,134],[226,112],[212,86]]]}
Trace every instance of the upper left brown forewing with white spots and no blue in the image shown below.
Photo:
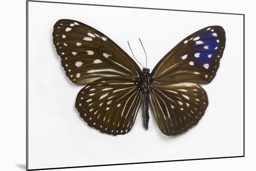
{"label": "upper left brown forewing with white spots and no blue", "polygon": [[60,19],[54,25],[54,45],[67,77],[86,84],[109,76],[139,76],[140,68],[110,38],[79,21]]}

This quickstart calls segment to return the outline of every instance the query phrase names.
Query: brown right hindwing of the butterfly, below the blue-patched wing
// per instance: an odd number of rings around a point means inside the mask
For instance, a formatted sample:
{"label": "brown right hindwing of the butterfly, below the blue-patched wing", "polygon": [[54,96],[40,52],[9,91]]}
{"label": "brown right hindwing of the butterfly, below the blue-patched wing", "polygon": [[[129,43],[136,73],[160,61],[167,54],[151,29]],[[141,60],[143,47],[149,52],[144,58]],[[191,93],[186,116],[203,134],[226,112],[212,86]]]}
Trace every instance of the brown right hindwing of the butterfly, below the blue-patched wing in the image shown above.
{"label": "brown right hindwing of the butterfly, below the blue-patched wing", "polygon": [[150,103],[162,133],[177,135],[198,123],[208,106],[208,98],[195,83],[158,83],[154,84]]}

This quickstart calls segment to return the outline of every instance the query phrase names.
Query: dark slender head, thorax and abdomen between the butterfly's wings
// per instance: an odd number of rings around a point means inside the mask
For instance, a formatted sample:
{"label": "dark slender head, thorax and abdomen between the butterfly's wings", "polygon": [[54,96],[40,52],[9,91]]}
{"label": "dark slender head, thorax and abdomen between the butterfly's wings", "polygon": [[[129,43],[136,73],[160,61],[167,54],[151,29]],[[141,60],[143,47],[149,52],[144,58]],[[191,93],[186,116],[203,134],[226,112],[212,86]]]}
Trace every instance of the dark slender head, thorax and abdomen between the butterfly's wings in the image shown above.
{"label": "dark slender head, thorax and abdomen between the butterfly's wings", "polygon": [[144,68],[142,70],[142,74],[139,77],[139,88],[143,92],[144,95],[144,103],[143,103],[143,127],[148,130],[148,120],[149,120],[149,114],[148,114],[148,104],[149,104],[149,94],[152,90],[153,82],[152,82],[152,75],[149,73],[148,68]]}

